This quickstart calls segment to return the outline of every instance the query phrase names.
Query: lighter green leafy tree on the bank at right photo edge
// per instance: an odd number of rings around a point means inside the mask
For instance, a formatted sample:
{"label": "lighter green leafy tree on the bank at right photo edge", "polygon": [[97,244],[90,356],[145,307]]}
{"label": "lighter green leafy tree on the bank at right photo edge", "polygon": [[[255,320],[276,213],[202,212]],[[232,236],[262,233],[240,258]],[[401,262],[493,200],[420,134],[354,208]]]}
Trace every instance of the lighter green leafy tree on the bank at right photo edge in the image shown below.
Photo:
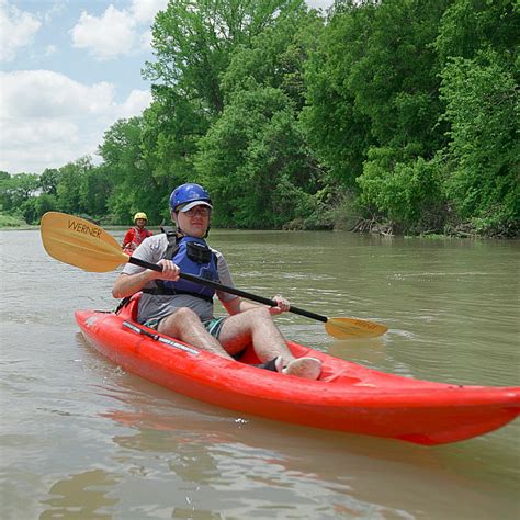
{"label": "lighter green leafy tree on the bank at right photo edge", "polygon": [[450,122],[445,191],[463,219],[512,231],[520,217],[518,86],[494,53],[453,58],[441,88]]}

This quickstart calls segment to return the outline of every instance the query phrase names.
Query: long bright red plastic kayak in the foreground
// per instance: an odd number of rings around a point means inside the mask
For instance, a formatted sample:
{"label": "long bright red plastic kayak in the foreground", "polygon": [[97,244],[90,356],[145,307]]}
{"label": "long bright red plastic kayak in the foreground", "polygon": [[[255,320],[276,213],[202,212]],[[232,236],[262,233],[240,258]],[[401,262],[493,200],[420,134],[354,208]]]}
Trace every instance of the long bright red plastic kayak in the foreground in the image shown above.
{"label": "long bright red plastic kayak in the foreground", "polygon": [[138,296],[116,313],[77,310],[90,343],[126,371],[212,405],[316,428],[434,445],[495,430],[520,414],[520,387],[463,386],[386,374],[293,341],[323,361],[318,381],[250,366],[158,335],[135,321]]}

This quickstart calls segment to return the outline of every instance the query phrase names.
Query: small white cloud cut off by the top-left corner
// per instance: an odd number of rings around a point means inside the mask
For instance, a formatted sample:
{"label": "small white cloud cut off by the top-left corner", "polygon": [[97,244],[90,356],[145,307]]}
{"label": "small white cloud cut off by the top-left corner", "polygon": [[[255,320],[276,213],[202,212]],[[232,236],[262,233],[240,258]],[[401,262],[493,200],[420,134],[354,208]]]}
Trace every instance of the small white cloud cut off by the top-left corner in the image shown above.
{"label": "small white cloud cut off by the top-left corner", "polygon": [[0,61],[12,61],[20,48],[32,43],[41,26],[33,14],[0,0]]}

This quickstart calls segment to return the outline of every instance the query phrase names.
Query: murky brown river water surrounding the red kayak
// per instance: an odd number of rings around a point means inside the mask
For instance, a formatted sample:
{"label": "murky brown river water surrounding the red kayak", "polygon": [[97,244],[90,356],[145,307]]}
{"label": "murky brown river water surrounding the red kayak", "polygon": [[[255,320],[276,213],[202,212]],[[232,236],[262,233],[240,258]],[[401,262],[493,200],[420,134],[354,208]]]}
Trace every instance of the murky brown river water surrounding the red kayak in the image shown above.
{"label": "murky brown river water surrounding the red kayak", "polygon": [[[113,230],[121,239],[123,230]],[[377,320],[335,340],[284,314],[287,338],[423,380],[520,385],[519,241],[214,230],[235,284],[326,316]],[[116,272],[0,231],[3,519],[518,519],[520,420],[425,448],[244,416],[126,373],[76,308],[111,309]]]}

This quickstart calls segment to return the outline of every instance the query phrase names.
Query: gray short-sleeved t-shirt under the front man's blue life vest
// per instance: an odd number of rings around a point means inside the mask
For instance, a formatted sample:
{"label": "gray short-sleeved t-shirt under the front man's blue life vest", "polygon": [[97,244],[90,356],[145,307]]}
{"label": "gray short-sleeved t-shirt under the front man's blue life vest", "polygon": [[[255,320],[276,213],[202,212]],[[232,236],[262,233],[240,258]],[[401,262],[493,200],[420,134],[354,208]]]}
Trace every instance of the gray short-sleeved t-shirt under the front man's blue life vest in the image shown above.
{"label": "gray short-sleeved t-shirt under the front man's blue life vest", "polygon": [[[166,250],[168,249],[168,238],[166,234],[154,235],[148,237],[134,251],[134,257],[140,260],[146,260],[150,263],[157,263],[159,260],[165,258]],[[227,262],[223,255],[216,249],[211,248],[217,257],[217,270],[218,281],[223,285],[233,285],[231,274],[227,267]],[[126,263],[123,268],[123,274],[136,274],[144,271],[144,268],[134,265],[133,263]],[[154,282],[149,282],[145,285],[146,289],[154,289],[157,285]],[[217,291],[216,295],[221,302],[229,302],[237,296],[234,294]],[[191,296],[190,294],[176,294],[176,295],[155,295],[143,293],[139,302],[139,310],[137,320],[144,324],[147,319],[151,318],[163,318],[172,314],[180,307],[189,307],[195,312],[202,320],[213,318],[213,304]]]}

